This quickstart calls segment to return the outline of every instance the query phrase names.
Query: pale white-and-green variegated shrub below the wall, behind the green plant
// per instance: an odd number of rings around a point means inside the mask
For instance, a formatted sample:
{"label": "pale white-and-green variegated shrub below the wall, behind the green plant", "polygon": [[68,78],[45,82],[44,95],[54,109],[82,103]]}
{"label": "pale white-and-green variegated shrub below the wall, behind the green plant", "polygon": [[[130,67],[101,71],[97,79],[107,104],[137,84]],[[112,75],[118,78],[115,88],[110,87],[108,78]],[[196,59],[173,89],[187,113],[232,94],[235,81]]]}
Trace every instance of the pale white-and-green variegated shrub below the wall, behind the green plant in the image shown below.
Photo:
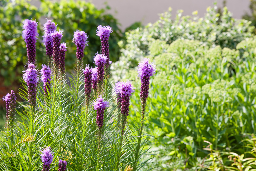
{"label": "pale white-and-green variegated shrub below the wall, behind the green plant", "polygon": [[[126,71],[137,66],[143,57],[165,52],[162,45],[171,44],[179,38],[198,40],[209,47],[219,45],[222,49],[234,49],[240,41],[253,35],[254,27],[250,26],[250,21],[234,19],[226,7],[222,15],[216,9],[207,8],[203,18],[199,18],[197,12],[193,16],[182,16],[180,10],[172,20],[170,8],[154,24],[126,32],[127,42],[118,43],[122,47],[120,61],[113,65],[116,80],[123,78]],[[152,51],[152,48],[159,49]]]}

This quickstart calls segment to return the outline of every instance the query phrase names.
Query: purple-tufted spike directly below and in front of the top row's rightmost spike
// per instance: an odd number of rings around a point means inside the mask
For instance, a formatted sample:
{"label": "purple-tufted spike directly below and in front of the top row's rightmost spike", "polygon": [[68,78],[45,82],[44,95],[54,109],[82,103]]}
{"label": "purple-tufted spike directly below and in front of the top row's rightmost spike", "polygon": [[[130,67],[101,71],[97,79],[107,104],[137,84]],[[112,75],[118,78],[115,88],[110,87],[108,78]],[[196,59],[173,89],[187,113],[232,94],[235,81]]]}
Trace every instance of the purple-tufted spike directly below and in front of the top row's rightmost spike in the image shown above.
{"label": "purple-tufted spike directly below and in front of the top row's rightmost spike", "polygon": [[103,80],[104,80],[104,74],[105,74],[104,65],[106,64],[106,56],[97,53],[97,54],[95,54],[93,61],[98,67],[98,69],[97,69],[97,96],[99,96],[99,94],[102,91],[102,85],[103,85]]}

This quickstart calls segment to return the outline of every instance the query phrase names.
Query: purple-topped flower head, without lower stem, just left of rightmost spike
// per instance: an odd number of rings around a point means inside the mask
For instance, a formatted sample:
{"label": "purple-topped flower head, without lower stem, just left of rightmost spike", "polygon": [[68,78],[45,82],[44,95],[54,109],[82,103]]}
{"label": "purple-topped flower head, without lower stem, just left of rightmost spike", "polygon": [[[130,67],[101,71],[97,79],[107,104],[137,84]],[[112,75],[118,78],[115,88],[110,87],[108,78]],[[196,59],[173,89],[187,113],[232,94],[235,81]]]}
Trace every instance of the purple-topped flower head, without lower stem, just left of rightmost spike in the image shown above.
{"label": "purple-topped flower head, without lower stem, just left of rightmost spike", "polygon": [[122,134],[124,133],[127,117],[129,115],[130,96],[134,92],[133,89],[134,87],[130,81],[116,84],[116,93],[121,96]]}

